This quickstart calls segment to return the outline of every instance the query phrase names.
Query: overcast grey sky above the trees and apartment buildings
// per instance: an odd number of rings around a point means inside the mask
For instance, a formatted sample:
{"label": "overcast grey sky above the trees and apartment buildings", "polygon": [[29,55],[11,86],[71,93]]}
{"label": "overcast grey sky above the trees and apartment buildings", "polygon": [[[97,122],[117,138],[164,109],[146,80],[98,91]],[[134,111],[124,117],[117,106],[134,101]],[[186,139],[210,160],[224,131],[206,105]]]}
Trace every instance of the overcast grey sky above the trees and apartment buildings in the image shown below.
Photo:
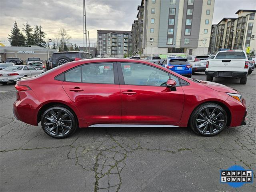
{"label": "overcast grey sky above the trees and apartment buildings", "polygon": [[[169,0],[167,0],[169,1]],[[72,2],[72,3],[71,3]],[[97,30],[131,30],[141,0],[86,0],[87,30],[90,43],[96,42]],[[0,0],[0,41],[6,46],[14,20],[19,28],[28,22],[41,25],[46,38],[54,39],[65,28],[71,42],[83,44],[83,0]],[[255,0],[215,0],[213,24],[224,17],[237,17],[239,9],[256,10]],[[92,45],[93,46],[93,45]]]}

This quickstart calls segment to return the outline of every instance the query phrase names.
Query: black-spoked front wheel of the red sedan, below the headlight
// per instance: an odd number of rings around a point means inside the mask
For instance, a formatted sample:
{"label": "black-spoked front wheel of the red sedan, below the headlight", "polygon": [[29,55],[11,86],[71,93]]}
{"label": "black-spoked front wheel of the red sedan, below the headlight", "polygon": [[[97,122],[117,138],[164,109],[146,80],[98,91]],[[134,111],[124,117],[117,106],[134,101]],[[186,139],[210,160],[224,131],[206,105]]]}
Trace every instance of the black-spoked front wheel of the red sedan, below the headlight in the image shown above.
{"label": "black-spoked front wheel of the red sedan, below the headlight", "polygon": [[189,125],[202,136],[214,136],[226,128],[228,118],[222,106],[215,103],[204,103],[192,112]]}

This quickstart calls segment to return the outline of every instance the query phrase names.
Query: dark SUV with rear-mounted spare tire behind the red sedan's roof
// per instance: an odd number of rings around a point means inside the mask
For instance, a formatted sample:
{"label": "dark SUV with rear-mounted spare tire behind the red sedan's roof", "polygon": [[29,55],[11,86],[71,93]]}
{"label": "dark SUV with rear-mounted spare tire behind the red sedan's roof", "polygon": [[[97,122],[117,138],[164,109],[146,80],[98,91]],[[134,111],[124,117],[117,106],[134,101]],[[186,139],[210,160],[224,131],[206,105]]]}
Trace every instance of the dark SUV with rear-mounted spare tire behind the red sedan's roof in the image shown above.
{"label": "dark SUV with rear-mounted spare tire behind the red sedan's roof", "polygon": [[50,59],[50,68],[60,66],[62,64],[79,60],[79,59],[92,59],[92,54],[82,51],[69,51],[53,53]]}

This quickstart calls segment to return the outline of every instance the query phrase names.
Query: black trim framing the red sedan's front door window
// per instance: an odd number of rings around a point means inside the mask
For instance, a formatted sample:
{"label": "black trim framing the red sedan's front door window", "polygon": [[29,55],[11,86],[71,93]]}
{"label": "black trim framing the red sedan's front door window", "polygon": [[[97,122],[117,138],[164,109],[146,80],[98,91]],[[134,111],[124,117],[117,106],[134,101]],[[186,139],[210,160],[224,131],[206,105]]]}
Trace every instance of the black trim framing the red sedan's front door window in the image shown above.
{"label": "black trim framing the red sedan's front door window", "polygon": [[[134,64],[142,64],[142,65],[146,65],[146,66],[148,66],[147,64],[144,64],[144,63],[137,63],[137,62],[122,62],[122,63],[134,63]],[[153,68],[156,68],[156,69],[158,69],[158,70],[161,70],[161,71],[163,71],[163,72],[166,72],[167,74],[168,74],[168,76],[169,76],[169,78],[171,79],[171,75],[173,75],[173,74],[171,74],[171,73],[169,73],[169,72],[167,72],[167,71],[165,71],[165,70],[162,70],[162,69],[160,69],[160,68],[157,68],[157,67],[155,67],[155,66],[152,66],[152,65],[150,65],[151,67],[153,67]],[[123,74],[123,71],[122,71],[122,67],[121,67],[121,62],[117,62],[117,70],[118,70],[118,77],[119,77],[119,83],[120,83],[120,85],[130,85],[130,84],[125,84],[125,82],[124,82],[124,74]],[[173,75],[173,76],[175,76],[175,75]],[[179,77],[177,77],[177,76],[175,76],[176,78],[178,78],[178,80],[179,80],[179,86],[176,86],[176,87],[180,87],[181,86],[181,83],[180,83],[180,78]],[[131,86],[153,86],[153,85],[131,85]],[[163,87],[163,86],[153,86],[153,87]]]}

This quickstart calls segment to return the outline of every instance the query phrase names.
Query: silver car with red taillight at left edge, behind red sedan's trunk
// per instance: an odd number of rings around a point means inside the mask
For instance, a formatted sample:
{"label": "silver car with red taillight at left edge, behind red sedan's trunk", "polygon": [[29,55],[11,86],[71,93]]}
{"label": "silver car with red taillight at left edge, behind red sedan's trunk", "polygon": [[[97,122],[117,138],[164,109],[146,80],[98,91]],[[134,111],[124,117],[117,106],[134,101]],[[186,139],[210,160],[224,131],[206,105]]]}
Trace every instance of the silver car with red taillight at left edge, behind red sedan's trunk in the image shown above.
{"label": "silver car with red taillight at left edge, behind red sedan's trunk", "polygon": [[30,65],[14,65],[0,71],[0,84],[6,85],[9,82],[16,82],[18,79],[27,76],[34,76],[43,73]]}

